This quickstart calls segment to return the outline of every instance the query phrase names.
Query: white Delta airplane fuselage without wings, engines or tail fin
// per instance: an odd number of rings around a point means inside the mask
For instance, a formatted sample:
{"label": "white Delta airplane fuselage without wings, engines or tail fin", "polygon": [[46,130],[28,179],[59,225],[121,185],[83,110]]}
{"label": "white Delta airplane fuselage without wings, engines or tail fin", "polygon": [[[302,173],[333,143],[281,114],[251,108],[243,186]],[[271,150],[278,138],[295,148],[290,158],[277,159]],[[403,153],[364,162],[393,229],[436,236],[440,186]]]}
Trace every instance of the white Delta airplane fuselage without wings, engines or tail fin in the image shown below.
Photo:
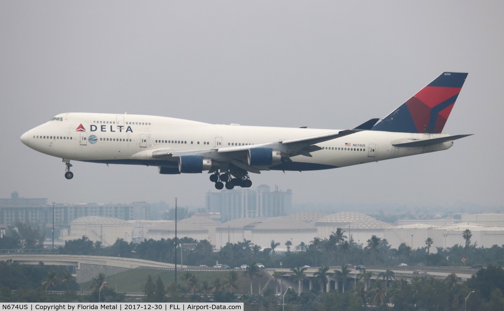
{"label": "white Delta airplane fuselage without wings, engines or tail fin", "polygon": [[[336,131],[221,125],[129,114],[64,113],[53,119],[26,132],[22,141],[39,152],[67,160],[150,166],[166,166],[165,160],[153,158],[153,151],[159,149],[219,149]],[[322,170],[445,150],[452,146],[452,141],[407,148],[392,144],[446,136],[449,135],[365,130],[317,143],[322,149],[311,152],[312,157],[296,155],[291,161],[269,169]]]}

